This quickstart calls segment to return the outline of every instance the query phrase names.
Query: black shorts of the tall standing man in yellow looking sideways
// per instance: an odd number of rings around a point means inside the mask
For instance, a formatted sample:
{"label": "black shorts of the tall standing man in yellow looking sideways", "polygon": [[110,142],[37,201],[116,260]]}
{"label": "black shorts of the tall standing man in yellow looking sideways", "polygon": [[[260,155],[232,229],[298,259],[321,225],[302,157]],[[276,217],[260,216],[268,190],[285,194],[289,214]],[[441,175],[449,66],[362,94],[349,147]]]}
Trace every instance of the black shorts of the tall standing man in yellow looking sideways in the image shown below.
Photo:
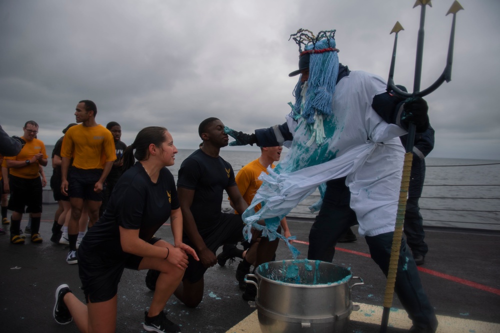
{"label": "black shorts of the tall standing man in yellow looking sideways", "polygon": [[102,175],[102,169],[78,169],[68,170],[67,194],[70,198],[81,198],[84,200],[102,201],[104,191],[94,192],[94,186]]}

